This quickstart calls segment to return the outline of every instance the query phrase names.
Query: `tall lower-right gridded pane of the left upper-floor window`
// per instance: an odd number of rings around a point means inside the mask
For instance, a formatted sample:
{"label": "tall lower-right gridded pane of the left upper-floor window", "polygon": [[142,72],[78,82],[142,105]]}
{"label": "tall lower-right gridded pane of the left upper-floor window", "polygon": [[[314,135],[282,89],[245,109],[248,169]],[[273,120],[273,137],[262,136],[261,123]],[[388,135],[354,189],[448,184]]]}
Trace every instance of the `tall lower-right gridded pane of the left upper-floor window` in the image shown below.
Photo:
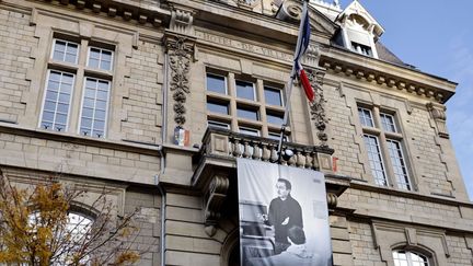
{"label": "tall lower-right gridded pane of the left upper-floor window", "polygon": [[[85,136],[103,138],[109,81],[86,78],[85,86],[80,132]],[[96,88],[105,89],[106,91],[97,90]]]}

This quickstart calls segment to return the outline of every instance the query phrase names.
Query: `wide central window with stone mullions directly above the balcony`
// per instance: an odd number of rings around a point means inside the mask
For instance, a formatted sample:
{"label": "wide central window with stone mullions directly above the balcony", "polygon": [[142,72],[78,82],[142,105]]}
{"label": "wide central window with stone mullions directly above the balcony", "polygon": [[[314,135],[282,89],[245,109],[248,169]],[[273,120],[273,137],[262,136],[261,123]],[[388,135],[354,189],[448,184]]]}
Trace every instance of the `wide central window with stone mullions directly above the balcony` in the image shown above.
{"label": "wide central window with stone mullions directly above the balcony", "polygon": [[284,81],[218,69],[207,69],[205,79],[208,127],[276,139],[273,132],[280,131],[285,111]]}

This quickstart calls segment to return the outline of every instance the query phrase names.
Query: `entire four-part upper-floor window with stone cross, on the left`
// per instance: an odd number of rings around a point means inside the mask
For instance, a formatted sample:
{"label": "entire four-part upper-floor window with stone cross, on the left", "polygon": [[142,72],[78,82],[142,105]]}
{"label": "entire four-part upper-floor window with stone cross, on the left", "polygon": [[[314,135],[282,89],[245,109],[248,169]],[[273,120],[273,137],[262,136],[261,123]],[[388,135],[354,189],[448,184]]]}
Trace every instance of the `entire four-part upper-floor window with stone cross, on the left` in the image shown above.
{"label": "entire four-part upper-floor window with stone cross, on the left", "polygon": [[[84,53],[80,53],[81,47],[86,47]],[[39,127],[104,138],[113,79],[113,57],[112,49],[101,48],[95,44],[91,46],[90,41],[83,39],[79,44],[69,39],[53,39]],[[82,66],[80,62],[84,61],[86,63]],[[93,69],[93,72],[90,69]],[[77,80],[77,77],[83,77],[83,80]],[[81,103],[74,107],[79,119],[70,118],[74,99],[78,103],[80,99]],[[78,122],[70,125],[71,120]]]}

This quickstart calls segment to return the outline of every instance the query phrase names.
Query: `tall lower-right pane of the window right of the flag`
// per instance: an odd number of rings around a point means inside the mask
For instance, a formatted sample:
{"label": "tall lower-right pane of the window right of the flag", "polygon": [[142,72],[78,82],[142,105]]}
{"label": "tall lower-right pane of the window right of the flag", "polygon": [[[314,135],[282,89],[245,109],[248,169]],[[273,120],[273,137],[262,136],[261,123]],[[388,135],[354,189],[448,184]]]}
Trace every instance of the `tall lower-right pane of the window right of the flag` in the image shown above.
{"label": "tall lower-right pane of the window right of the flag", "polygon": [[388,139],[388,150],[393,164],[394,175],[397,186],[411,190],[409,177],[405,165],[401,143],[396,140]]}

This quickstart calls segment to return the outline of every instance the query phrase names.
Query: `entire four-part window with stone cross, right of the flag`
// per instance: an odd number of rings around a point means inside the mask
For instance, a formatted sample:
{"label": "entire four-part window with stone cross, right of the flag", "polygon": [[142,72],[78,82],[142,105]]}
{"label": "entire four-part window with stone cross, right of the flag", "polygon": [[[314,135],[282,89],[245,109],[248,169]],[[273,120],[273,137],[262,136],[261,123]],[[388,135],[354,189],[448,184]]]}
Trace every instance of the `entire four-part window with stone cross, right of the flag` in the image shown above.
{"label": "entire four-part window with stone cross, right of the flag", "polygon": [[358,117],[374,183],[412,190],[403,136],[396,127],[394,115],[379,107],[358,107]]}

